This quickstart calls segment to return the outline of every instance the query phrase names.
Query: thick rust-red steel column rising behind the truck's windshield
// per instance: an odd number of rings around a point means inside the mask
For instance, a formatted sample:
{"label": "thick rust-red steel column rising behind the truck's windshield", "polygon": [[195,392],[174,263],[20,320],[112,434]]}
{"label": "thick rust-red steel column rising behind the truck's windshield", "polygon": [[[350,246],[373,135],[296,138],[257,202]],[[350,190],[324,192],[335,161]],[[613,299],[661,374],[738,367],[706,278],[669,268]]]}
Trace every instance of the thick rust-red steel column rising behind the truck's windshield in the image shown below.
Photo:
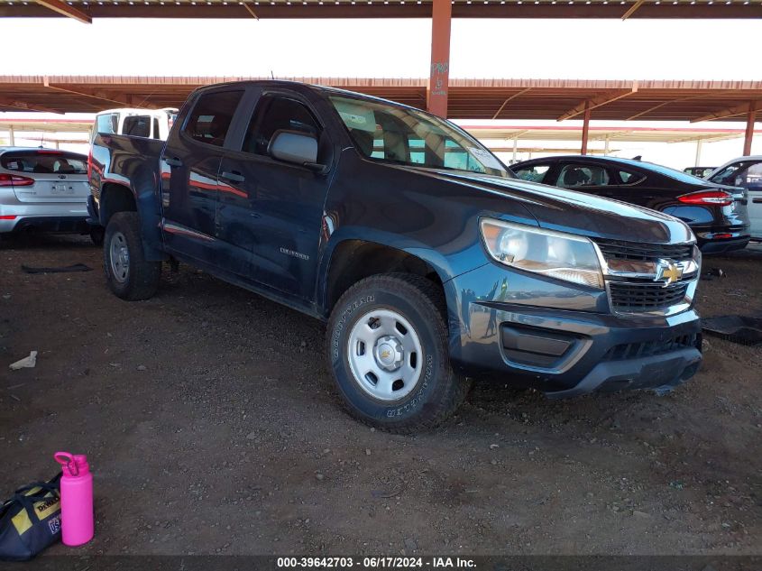
{"label": "thick rust-red steel column rising behind the truck's windshield", "polygon": [[431,70],[428,79],[428,110],[447,116],[447,91],[450,83],[451,0],[434,0],[431,10]]}

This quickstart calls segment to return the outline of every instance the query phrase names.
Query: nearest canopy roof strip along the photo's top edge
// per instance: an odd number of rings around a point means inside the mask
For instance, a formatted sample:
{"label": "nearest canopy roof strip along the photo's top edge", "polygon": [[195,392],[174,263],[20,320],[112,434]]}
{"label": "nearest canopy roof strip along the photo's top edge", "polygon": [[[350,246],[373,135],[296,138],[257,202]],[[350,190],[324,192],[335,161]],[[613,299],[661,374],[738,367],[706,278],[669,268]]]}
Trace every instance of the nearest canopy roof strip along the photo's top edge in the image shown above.
{"label": "nearest canopy roof strip along the photo's top edge", "polygon": [[[0,17],[428,18],[432,0],[2,0]],[[759,0],[453,0],[454,18],[759,18]]]}

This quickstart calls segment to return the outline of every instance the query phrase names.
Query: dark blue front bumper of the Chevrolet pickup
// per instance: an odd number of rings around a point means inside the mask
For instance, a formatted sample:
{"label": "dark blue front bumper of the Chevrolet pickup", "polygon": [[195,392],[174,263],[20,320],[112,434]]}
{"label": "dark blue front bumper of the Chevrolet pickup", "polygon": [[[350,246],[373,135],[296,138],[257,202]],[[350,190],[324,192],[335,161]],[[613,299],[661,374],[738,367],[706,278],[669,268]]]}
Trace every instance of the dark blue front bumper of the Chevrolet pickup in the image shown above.
{"label": "dark blue front bumper of the Chevrolet pickup", "polygon": [[461,373],[557,398],[666,390],[692,377],[701,364],[701,322],[693,309],[668,317],[615,316],[604,303],[605,292],[573,284],[560,286],[565,293],[555,296],[490,296],[489,286],[486,294],[472,295],[484,284],[526,279],[513,274],[488,264],[445,283],[450,355]]}

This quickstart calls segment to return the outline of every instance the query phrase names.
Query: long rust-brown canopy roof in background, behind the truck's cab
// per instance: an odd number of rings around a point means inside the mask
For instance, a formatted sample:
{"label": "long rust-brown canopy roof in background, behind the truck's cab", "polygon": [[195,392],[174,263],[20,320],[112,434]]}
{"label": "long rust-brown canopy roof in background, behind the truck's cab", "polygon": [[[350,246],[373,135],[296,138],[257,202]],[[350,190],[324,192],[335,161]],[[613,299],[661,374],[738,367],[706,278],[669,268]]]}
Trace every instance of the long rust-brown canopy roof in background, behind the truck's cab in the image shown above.
{"label": "long rust-brown canopy roof in background, behind the truck's cab", "polygon": [[[194,88],[243,77],[0,76],[0,111],[94,113],[110,107],[180,106]],[[427,79],[292,78],[426,107]],[[450,79],[458,119],[746,120],[762,81]]]}

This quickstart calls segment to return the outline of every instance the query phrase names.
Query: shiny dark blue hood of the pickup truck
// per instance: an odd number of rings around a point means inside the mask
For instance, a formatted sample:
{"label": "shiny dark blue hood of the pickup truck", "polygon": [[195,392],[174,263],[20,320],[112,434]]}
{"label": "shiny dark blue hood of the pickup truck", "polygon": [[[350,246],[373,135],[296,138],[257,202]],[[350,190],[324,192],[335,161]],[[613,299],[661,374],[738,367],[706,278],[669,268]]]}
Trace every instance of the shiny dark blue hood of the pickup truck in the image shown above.
{"label": "shiny dark blue hood of the pickup truck", "polygon": [[490,193],[495,197],[494,209],[498,213],[503,200],[519,200],[542,228],[652,244],[676,244],[694,239],[691,229],[674,216],[620,200],[461,170],[401,168],[472,191]]}

